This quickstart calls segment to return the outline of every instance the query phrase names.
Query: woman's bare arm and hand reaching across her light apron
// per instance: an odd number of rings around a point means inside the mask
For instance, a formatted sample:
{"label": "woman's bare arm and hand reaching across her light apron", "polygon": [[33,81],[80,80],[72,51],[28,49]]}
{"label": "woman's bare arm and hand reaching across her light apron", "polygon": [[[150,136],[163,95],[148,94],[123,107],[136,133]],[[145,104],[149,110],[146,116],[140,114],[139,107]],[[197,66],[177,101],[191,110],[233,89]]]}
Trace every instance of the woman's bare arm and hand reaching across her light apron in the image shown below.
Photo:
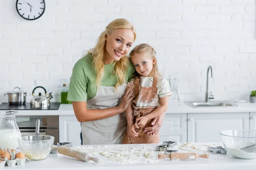
{"label": "woman's bare arm and hand reaching across her light apron", "polygon": [[131,100],[134,99],[134,89],[128,87],[119,106],[106,109],[87,109],[86,102],[72,102],[76,119],[79,122],[106,119],[125,112]]}

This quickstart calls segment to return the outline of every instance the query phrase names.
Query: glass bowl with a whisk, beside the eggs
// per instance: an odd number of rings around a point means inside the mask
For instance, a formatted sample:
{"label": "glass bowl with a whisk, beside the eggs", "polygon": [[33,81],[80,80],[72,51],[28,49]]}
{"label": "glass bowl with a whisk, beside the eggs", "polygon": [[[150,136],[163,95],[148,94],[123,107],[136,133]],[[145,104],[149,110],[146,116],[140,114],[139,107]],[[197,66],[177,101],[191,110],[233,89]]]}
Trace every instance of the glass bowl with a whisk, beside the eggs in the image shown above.
{"label": "glass bowl with a whisk, beside the eggs", "polygon": [[30,160],[46,159],[52,150],[53,136],[36,135],[22,136],[18,138],[20,150]]}

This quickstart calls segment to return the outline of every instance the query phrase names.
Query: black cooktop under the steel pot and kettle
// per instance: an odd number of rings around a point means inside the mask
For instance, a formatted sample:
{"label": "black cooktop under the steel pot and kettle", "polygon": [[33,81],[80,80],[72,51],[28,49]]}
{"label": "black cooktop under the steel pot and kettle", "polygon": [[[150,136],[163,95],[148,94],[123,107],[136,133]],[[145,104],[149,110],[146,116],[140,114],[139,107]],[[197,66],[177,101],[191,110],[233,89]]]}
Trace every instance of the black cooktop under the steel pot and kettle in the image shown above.
{"label": "black cooktop under the steel pot and kettle", "polygon": [[30,103],[25,105],[9,105],[9,103],[2,103],[0,110],[58,110],[60,102],[51,102],[49,108],[30,108]]}

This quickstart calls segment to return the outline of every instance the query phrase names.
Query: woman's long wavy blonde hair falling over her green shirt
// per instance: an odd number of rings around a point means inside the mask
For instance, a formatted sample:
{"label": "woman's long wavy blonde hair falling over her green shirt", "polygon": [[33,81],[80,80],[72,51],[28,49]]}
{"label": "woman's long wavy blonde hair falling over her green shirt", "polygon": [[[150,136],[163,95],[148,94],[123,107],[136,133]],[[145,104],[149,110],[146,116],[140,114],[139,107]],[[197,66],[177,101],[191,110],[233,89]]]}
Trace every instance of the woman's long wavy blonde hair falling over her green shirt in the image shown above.
{"label": "woman's long wavy blonde hair falling over her green shirt", "polygon": [[[88,54],[91,54],[93,57],[93,67],[96,69],[96,85],[100,85],[101,79],[104,76],[104,57],[106,54],[106,36],[110,35],[114,30],[123,28],[131,29],[134,33],[134,40],[136,39],[136,32],[134,25],[126,19],[116,19],[106,26],[105,31],[103,31],[94,48],[88,51]],[[126,72],[129,66],[129,59],[125,55],[119,61],[114,61],[113,73],[117,75],[117,83],[115,88],[122,83],[126,82]]]}

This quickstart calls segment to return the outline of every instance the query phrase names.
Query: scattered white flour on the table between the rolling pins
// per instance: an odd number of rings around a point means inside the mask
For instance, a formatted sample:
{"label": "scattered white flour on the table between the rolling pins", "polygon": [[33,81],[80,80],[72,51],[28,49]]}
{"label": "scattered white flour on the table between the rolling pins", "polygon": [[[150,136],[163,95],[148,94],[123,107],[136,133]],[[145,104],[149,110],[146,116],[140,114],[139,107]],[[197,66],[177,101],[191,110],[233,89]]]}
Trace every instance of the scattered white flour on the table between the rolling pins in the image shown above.
{"label": "scattered white flour on the table between the rolling pins", "polygon": [[[101,163],[107,164],[135,164],[135,163],[157,163],[158,154],[164,154],[163,151],[156,151],[159,144],[113,144],[113,145],[94,145],[76,147],[92,154],[92,156],[101,159]],[[175,147],[168,148],[178,150],[180,153],[198,153],[204,154],[207,146],[196,145],[192,143],[179,144]]]}

